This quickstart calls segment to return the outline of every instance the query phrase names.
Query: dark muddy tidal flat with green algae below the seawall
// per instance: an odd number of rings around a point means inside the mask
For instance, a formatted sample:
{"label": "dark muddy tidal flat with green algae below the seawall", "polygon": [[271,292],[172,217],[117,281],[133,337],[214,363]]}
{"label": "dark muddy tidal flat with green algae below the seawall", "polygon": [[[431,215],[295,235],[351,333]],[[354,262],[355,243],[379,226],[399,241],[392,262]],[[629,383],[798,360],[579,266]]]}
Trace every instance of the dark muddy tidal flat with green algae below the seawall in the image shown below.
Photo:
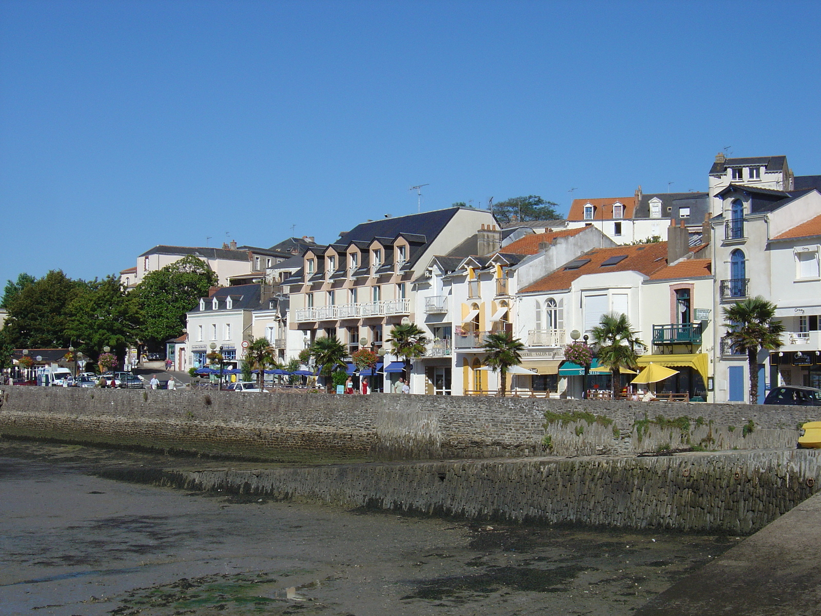
{"label": "dark muddy tidal flat with green algae below the seawall", "polygon": [[103,478],[260,467],[0,439],[0,614],[631,614],[740,538],[346,511]]}

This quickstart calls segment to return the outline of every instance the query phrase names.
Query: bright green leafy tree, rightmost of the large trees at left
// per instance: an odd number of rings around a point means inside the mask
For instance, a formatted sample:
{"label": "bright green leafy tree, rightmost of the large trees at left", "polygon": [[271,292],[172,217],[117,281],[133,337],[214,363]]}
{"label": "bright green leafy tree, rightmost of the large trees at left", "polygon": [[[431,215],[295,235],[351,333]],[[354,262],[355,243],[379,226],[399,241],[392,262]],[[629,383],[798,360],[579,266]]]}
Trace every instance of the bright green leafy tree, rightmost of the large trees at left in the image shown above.
{"label": "bright green leafy tree, rightmost of the large trees at left", "polygon": [[135,289],[142,341],[159,345],[181,336],[186,326],[186,312],[217,283],[217,274],[194,255],[186,255],[146,275]]}

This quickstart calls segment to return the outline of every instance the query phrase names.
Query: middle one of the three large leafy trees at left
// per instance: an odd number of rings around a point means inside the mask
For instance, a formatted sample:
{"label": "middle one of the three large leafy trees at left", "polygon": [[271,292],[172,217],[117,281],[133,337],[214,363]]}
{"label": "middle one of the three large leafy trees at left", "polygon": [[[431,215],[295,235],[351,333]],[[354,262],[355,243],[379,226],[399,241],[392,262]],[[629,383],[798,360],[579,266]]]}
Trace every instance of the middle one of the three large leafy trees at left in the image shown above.
{"label": "middle one of the three large leafy trees at left", "polygon": [[136,341],[137,302],[116,275],[79,287],[66,310],[67,335],[94,361],[103,347],[111,347],[122,361],[126,347]]}

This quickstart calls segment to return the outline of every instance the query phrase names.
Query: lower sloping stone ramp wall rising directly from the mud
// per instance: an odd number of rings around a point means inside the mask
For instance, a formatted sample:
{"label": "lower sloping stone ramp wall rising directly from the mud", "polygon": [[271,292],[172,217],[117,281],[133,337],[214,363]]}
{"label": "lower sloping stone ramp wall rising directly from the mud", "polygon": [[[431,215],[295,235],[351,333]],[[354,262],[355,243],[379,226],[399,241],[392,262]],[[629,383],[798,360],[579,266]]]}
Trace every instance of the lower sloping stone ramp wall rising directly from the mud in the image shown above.
{"label": "lower sloping stone ramp wall rising directly from the mud", "polygon": [[[388,462],[167,471],[143,480],[428,515],[750,534],[818,490],[819,456],[809,450],[764,450]],[[140,478],[130,471],[112,476]]]}

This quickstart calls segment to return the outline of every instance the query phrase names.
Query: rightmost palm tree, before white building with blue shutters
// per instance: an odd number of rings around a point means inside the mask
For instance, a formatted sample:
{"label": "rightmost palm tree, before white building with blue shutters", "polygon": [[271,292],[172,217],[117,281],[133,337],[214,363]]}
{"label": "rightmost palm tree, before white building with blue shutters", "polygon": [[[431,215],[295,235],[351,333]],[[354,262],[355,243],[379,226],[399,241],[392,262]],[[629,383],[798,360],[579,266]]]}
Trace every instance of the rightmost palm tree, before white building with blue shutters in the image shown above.
{"label": "rightmost palm tree, before white building with blue shutters", "polygon": [[773,321],[776,306],[764,297],[750,297],[724,306],[722,312],[727,323],[727,340],[736,348],[747,352],[750,366],[750,403],[759,397],[759,350],[775,351],[782,346],[784,324]]}

